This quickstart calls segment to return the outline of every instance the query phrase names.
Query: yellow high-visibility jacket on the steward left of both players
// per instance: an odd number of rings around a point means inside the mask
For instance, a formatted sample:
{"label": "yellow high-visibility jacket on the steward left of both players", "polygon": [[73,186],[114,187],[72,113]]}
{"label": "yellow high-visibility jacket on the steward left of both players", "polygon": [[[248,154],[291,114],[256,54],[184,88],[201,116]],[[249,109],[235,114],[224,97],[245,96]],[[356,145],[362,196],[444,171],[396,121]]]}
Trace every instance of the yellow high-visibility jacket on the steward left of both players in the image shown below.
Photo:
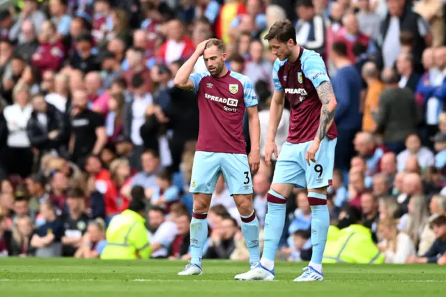
{"label": "yellow high-visibility jacket on the steward left of both players", "polygon": [[107,228],[107,245],[100,259],[148,259],[151,246],[145,222],[139,213],[130,210],[116,215]]}

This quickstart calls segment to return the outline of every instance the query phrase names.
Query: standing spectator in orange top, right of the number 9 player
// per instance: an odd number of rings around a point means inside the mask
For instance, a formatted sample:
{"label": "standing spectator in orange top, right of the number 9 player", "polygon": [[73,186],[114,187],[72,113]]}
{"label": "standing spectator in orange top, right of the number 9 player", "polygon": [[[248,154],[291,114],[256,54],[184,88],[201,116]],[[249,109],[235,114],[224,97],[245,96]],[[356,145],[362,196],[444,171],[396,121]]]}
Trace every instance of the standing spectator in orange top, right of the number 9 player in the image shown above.
{"label": "standing spectator in orange top, right of the number 9 player", "polygon": [[379,96],[383,93],[385,86],[380,80],[379,70],[375,63],[364,63],[361,74],[362,78],[367,83],[364,116],[362,116],[362,131],[373,132],[376,129],[376,122],[374,121],[373,114],[378,112]]}

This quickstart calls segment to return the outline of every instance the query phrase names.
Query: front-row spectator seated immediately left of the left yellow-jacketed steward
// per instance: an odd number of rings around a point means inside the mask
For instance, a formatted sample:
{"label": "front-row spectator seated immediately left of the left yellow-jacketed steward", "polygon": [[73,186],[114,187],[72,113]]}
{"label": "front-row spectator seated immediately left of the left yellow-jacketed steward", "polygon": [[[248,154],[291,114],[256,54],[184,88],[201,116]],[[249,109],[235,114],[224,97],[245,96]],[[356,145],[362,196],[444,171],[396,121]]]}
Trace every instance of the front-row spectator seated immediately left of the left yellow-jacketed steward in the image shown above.
{"label": "front-row spectator seated immediately left of the left yellow-jacketed steward", "polygon": [[75,258],[99,258],[107,245],[105,230],[105,222],[101,218],[89,222],[89,227],[82,238],[80,248],[76,251]]}

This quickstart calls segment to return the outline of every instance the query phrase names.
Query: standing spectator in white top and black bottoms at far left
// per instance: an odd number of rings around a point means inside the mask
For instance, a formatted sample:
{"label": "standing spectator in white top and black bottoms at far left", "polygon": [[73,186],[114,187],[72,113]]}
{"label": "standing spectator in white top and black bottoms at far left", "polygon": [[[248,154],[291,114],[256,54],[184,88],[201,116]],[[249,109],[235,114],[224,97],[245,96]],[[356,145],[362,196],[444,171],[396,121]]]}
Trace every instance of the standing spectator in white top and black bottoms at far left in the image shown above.
{"label": "standing spectator in white top and black bottoms at far left", "polygon": [[17,84],[13,91],[14,105],[5,107],[3,114],[8,125],[8,169],[9,174],[29,176],[33,167],[33,152],[26,125],[33,112],[29,104],[29,87],[25,84]]}

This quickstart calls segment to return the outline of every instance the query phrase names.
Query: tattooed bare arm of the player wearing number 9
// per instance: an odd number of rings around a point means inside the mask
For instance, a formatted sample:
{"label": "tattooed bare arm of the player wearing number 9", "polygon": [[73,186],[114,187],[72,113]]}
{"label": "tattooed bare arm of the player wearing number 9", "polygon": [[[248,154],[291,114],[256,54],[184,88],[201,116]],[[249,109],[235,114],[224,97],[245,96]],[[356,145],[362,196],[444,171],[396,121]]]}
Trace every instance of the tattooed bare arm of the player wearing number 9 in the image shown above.
{"label": "tattooed bare arm of the player wearing number 9", "polygon": [[322,140],[325,138],[325,135],[327,135],[328,128],[330,128],[332,120],[334,119],[335,109],[332,107],[330,108],[330,101],[334,99],[334,92],[331,82],[323,82],[316,88],[316,91],[319,100],[322,102],[321,120],[319,121],[316,137],[318,137],[319,140]]}

